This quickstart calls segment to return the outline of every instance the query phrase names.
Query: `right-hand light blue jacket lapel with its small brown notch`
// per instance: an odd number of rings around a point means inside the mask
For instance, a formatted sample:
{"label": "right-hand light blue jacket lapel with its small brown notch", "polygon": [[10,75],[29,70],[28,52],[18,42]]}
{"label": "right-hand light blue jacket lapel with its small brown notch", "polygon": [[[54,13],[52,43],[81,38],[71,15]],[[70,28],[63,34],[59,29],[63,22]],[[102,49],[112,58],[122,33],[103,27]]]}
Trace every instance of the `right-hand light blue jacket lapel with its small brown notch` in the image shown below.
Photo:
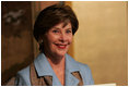
{"label": "right-hand light blue jacket lapel with its small brown notch", "polygon": [[[78,73],[77,73],[78,72]],[[66,86],[78,86],[83,80],[79,79],[80,69],[78,63],[68,54],[66,54]]]}

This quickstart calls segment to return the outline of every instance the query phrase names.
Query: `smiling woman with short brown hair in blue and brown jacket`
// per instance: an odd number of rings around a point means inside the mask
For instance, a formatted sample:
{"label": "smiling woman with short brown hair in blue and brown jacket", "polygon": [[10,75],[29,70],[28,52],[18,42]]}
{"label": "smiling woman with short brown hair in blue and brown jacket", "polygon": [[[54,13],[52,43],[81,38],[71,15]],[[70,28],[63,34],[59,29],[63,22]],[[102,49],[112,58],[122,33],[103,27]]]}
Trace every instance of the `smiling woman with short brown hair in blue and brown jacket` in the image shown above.
{"label": "smiling woman with short brown hair in blue and brown jacket", "polygon": [[78,25],[75,14],[68,5],[55,4],[43,10],[34,25],[40,53],[34,63],[17,73],[15,85],[93,85],[89,66],[67,54]]}

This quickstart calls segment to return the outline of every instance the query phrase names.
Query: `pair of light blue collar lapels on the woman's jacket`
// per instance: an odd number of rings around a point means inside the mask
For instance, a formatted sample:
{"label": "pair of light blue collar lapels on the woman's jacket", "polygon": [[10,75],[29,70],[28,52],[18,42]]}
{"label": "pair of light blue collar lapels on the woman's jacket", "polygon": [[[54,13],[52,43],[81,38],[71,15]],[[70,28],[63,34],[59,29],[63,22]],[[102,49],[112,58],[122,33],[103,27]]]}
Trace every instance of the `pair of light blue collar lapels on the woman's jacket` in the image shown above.
{"label": "pair of light blue collar lapels on the woman's jacket", "polygon": [[[34,64],[38,76],[52,76],[52,85],[61,85],[44,53],[40,53],[35,59]],[[66,86],[78,85],[79,79],[71,74],[77,71],[80,71],[78,63],[70,55],[66,54]]]}

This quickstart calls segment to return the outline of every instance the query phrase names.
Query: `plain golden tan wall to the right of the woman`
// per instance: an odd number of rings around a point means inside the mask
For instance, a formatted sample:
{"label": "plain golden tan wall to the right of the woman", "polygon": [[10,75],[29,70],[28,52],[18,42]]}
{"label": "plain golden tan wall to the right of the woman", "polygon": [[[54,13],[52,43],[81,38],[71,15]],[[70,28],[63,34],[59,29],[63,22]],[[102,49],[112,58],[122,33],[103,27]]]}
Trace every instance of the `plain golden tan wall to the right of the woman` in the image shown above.
{"label": "plain golden tan wall to the right of the woman", "polygon": [[95,84],[128,85],[128,18],[125,1],[72,1],[80,27],[74,59],[89,64]]}

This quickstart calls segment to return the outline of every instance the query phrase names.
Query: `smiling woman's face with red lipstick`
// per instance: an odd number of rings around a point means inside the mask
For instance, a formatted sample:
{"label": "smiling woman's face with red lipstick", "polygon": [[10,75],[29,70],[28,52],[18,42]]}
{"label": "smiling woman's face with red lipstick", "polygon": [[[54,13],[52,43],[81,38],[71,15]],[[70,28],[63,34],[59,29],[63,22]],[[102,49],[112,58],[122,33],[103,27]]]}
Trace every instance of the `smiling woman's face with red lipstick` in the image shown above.
{"label": "smiling woman's face with red lipstick", "polygon": [[43,37],[44,52],[50,57],[64,57],[72,42],[72,26],[59,23],[50,28]]}

